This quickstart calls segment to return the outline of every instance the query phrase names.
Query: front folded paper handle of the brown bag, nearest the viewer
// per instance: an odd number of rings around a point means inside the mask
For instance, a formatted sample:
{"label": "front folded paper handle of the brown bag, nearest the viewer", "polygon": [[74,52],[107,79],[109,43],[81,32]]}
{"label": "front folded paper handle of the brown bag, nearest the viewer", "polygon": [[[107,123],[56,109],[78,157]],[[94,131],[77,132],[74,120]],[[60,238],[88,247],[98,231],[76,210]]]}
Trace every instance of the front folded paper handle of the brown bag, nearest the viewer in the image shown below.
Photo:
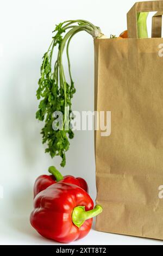
{"label": "front folded paper handle of the brown bag, nearest the viewer", "polygon": [[127,14],[128,38],[138,38],[137,36],[137,13],[149,11],[163,12],[163,1],[137,2]]}

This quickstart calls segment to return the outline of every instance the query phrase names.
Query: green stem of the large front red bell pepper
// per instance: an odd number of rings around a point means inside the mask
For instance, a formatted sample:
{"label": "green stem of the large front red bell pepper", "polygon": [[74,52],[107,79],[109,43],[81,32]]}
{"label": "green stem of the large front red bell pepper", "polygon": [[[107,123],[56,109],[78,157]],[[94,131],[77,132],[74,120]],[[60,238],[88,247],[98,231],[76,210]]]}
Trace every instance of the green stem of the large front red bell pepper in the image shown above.
{"label": "green stem of the large front red bell pepper", "polygon": [[85,206],[78,206],[73,209],[72,222],[74,225],[80,228],[86,220],[101,214],[102,211],[103,209],[101,205],[96,205],[95,209],[90,211],[85,211]]}

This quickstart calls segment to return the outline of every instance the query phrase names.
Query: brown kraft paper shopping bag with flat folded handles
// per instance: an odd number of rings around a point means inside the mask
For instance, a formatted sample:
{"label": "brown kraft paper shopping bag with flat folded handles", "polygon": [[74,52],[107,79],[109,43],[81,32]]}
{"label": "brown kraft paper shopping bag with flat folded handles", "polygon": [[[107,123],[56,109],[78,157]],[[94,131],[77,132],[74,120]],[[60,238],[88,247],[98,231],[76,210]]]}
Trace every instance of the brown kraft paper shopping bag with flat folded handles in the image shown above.
{"label": "brown kraft paper shopping bag with flat folded handles", "polygon": [[131,8],[129,39],[95,40],[95,109],[111,111],[111,135],[95,134],[96,229],[163,240],[163,39],[160,18],[153,38],[137,39],[143,11],[163,1]]}

